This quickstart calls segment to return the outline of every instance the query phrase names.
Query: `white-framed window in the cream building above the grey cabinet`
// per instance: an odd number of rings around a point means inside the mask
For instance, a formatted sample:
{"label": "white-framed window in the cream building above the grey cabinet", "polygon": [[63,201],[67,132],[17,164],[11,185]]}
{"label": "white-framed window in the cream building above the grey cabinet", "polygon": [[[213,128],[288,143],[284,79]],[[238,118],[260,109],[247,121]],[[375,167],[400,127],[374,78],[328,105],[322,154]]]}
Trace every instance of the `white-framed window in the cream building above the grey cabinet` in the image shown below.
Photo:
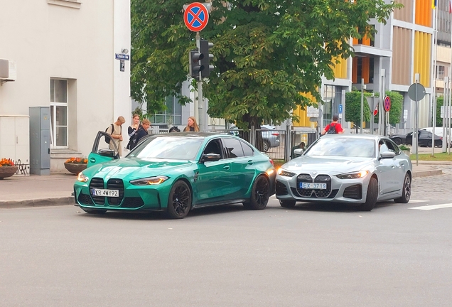
{"label": "white-framed window in the cream building above the grey cabinet", "polygon": [[68,148],[68,80],[50,79],[50,146]]}

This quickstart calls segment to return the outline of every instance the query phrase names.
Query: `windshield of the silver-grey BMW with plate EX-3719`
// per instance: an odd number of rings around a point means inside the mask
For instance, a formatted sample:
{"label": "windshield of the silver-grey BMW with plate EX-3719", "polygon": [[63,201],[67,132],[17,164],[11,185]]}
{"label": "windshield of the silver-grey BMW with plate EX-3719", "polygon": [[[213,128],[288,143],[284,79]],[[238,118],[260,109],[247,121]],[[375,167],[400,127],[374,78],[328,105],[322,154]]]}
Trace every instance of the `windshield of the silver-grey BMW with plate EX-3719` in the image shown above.
{"label": "windshield of the silver-grey BMW with plate EX-3719", "polygon": [[375,141],[343,137],[321,138],[306,151],[304,156],[372,158],[375,156]]}

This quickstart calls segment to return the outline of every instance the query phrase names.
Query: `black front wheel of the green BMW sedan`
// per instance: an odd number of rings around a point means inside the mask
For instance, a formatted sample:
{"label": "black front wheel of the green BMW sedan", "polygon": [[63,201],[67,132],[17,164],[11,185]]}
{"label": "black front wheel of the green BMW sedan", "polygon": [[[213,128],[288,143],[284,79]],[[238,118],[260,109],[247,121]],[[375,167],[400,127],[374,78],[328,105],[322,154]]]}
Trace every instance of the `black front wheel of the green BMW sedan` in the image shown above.
{"label": "black front wheel of the green BMW sedan", "polygon": [[171,219],[182,219],[191,208],[191,191],[185,181],[176,181],[168,196],[166,215]]}

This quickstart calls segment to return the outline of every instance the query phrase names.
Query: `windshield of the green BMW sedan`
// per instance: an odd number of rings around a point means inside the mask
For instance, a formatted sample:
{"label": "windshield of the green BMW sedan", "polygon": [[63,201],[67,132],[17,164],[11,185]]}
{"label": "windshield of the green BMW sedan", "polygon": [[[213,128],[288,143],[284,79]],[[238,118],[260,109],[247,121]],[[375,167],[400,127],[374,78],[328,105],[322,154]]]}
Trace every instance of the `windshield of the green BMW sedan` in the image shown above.
{"label": "windshield of the green BMW sedan", "polygon": [[193,160],[203,141],[202,137],[151,136],[127,157]]}

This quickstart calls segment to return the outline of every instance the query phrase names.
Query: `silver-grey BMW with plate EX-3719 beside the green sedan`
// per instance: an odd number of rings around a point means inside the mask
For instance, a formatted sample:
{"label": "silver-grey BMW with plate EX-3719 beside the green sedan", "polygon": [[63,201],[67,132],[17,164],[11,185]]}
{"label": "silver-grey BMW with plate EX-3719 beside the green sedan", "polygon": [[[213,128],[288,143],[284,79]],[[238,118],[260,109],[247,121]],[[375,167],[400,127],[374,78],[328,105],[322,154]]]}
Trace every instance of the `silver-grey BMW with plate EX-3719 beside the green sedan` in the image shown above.
{"label": "silver-grey BMW with plate EX-3719 beside the green sedan", "polygon": [[409,156],[386,136],[322,136],[277,173],[276,198],[284,208],[330,202],[370,211],[383,200],[408,203],[411,195]]}

